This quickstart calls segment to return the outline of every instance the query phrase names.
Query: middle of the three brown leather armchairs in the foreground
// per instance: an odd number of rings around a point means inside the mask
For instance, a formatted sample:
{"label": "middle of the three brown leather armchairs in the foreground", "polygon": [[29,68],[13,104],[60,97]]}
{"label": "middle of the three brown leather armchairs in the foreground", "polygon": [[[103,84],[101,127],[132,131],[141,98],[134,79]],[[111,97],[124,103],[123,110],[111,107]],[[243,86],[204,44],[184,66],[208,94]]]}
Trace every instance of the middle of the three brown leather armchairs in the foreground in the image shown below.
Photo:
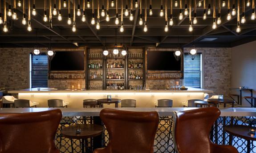
{"label": "middle of the three brown leather armchairs in the foreground", "polygon": [[93,153],[153,153],[159,122],[157,112],[103,109],[100,118],[110,141],[106,148],[95,149]]}

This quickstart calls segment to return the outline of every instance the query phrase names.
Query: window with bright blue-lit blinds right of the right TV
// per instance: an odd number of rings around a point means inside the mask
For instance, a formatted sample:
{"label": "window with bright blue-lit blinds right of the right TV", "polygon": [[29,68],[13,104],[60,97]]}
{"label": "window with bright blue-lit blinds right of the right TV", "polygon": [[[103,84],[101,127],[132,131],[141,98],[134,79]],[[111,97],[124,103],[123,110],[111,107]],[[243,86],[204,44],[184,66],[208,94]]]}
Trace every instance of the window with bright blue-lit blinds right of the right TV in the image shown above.
{"label": "window with bright blue-lit blinds right of the right TV", "polygon": [[202,88],[202,54],[184,55],[184,86]]}

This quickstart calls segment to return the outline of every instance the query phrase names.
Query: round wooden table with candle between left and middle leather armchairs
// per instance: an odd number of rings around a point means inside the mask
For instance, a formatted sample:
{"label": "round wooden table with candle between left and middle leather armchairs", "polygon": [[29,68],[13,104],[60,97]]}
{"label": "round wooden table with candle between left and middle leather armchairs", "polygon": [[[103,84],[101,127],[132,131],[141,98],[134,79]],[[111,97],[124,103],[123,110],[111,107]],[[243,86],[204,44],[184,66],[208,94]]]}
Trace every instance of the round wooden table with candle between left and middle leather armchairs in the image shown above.
{"label": "round wooden table with candle between left and middle leather armchairs", "polygon": [[[81,133],[76,133],[77,129],[81,129]],[[67,137],[69,139],[82,139],[81,150],[82,150],[82,153],[85,153],[84,139],[101,135],[103,130],[104,130],[103,127],[97,124],[76,124],[73,126],[65,127],[64,129],[61,130],[61,134],[63,137]]]}

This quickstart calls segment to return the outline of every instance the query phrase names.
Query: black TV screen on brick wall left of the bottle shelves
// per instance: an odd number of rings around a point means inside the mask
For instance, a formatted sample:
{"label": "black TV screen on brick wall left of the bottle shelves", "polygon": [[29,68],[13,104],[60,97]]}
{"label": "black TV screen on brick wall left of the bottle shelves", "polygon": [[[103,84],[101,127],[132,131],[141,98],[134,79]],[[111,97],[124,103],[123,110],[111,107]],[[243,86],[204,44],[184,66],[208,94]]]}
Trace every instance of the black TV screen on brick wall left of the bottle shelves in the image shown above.
{"label": "black TV screen on brick wall left of the bottle shelves", "polygon": [[56,51],[51,60],[51,71],[84,71],[84,51]]}

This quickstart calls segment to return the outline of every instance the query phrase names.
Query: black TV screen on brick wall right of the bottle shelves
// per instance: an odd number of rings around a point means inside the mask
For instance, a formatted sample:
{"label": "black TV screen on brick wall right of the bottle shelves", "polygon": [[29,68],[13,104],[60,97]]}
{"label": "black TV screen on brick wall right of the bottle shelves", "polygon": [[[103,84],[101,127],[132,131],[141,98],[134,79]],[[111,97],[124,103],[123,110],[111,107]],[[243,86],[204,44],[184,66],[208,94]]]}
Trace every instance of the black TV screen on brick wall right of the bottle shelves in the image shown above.
{"label": "black TV screen on brick wall right of the bottle shelves", "polygon": [[181,71],[181,59],[177,61],[174,51],[148,51],[148,71]]}

